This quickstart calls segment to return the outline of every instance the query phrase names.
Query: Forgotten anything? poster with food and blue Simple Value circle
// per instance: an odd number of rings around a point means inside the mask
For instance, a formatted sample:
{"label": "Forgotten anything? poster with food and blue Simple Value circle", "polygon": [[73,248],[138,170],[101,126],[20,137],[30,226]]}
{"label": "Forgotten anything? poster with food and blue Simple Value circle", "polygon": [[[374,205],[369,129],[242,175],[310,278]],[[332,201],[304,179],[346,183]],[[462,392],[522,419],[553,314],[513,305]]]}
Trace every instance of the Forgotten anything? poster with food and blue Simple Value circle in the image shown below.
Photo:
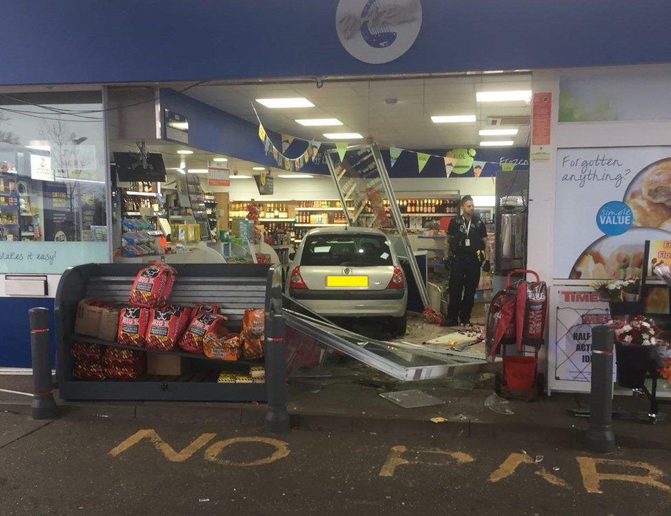
{"label": "Forgotten anything? poster with food and blue Simple Value circle", "polygon": [[641,277],[671,238],[671,147],[558,149],[555,279]]}

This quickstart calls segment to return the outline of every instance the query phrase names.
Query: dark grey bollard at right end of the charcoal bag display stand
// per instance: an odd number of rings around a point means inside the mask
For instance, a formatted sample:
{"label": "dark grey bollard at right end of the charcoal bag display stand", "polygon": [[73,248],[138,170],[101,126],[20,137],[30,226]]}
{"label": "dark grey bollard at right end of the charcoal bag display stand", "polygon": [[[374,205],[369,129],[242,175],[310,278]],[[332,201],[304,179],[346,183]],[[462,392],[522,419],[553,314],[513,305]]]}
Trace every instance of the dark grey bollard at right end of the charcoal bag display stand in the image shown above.
{"label": "dark grey bollard at right end of the charcoal bag display stand", "polygon": [[265,415],[265,428],[280,433],[289,431],[289,413],[287,412],[287,371],[284,316],[270,314],[267,322],[268,335],[265,346],[265,388],[268,396],[268,412]]}

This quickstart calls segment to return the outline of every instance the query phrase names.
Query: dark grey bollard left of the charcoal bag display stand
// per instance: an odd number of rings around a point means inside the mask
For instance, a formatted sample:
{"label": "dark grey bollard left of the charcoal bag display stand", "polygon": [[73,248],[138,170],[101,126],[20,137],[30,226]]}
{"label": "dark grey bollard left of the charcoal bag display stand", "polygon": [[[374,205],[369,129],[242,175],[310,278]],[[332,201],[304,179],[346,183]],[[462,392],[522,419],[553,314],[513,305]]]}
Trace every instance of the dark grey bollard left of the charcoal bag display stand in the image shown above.
{"label": "dark grey bollard left of the charcoal bag display stand", "polygon": [[32,418],[52,419],[58,416],[58,407],[54,400],[52,361],[49,354],[49,310],[31,308],[30,354],[32,356]]}

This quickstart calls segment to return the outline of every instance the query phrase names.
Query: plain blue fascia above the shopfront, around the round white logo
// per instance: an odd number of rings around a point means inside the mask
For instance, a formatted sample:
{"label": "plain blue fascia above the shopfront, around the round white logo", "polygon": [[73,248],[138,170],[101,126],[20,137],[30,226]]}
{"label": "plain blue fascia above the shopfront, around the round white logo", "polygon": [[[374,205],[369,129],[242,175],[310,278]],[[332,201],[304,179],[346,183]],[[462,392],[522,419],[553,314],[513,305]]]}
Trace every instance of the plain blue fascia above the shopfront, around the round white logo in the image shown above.
{"label": "plain blue fascia above the shopfront, around the round white logo", "polygon": [[584,0],[423,0],[415,44],[395,61],[369,65],[340,44],[337,6],[336,0],[5,0],[0,83],[568,67],[664,62],[671,53],[667,0],[612,0],[607,9]]}

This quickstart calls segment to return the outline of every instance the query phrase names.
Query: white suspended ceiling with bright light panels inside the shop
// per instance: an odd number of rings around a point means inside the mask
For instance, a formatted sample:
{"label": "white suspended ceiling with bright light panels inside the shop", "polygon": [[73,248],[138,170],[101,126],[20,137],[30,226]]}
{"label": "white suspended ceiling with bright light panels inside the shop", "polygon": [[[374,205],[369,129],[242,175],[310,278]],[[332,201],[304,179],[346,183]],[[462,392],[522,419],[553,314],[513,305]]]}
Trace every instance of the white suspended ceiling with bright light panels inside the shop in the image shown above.
{"label": "white suspended ceiling with bright light panels inside the shop", "polygon": [[[531,89],[531,74],[478,74],[380,80],[331,80],[316,87],[307,83],[202,85],[188,91],[223,111],[256,123],[251,101],[256,98],[305,97],[315,107],[267,109],[256,105],[265,127],[291,136],[325,141],[322,133],[358,132],[372,135],[382,146],[405,149],[441,149],[475,146],[481,140],[510,137],[478,136],[478,129],[516,127],[516,146],[529,138],[530,107],[525,102],[476,103],[476,92]],[[474,114],[470,123],[435,124],[434,115]],[[521,117],[510,119],[509,117]],[[296,118],[338,118],[338,127],[303,127]],[[514,123],[506,123],[514,122]],[[521,123],[520,123],[521,122]]]}

